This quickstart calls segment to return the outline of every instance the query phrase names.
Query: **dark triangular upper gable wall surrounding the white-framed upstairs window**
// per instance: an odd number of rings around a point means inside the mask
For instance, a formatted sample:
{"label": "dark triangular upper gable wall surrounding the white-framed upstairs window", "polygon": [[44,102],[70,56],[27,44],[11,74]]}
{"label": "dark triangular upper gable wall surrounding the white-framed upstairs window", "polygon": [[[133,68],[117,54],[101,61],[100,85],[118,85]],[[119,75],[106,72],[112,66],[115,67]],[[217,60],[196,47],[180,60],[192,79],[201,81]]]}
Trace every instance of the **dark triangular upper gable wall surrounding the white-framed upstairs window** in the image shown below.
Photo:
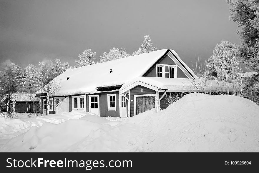
{"label": "dark triangular upper gable wall surrounding the white-framed upstairs window", "polygon": [[[169,64],[169,65],[176,65],[172,59],[166,55],[163,59],[161,59],[157,64]],[[145,77],[156,77],[157,76],[157,67],[154,66],[146,75]],[[177,67],[177,78],[188,78],[182,70]]]}

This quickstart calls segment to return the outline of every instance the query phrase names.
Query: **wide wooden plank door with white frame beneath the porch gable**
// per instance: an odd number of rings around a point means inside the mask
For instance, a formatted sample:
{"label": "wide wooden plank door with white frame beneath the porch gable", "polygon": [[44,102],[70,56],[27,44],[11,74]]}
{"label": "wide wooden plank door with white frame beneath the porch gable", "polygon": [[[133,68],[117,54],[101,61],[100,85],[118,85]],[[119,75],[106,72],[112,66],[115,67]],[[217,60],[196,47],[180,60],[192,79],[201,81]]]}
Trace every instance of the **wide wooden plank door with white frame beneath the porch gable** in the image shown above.
{"label": "wide wooden plank door with white frame beneath the porch gable", "polygon": [[136,115],[155,107],[155,96],[136,97]]}

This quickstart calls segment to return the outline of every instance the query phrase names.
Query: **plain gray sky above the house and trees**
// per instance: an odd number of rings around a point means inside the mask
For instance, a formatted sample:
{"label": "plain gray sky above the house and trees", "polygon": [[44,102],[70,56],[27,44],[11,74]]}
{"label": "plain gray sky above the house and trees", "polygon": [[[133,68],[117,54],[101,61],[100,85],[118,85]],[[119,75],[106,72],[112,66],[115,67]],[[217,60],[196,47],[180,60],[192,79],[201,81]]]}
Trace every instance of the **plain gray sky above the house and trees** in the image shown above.
{"label": "plain gray sky above the house and trees", "polygon": [[0,0],[0,61],[24,67],[60,58],[74,66],[85,49],[97,59],[113,47],[132,54],[149,34],[191,67],[221,40],[240,43],[229,8],[225,0]]}

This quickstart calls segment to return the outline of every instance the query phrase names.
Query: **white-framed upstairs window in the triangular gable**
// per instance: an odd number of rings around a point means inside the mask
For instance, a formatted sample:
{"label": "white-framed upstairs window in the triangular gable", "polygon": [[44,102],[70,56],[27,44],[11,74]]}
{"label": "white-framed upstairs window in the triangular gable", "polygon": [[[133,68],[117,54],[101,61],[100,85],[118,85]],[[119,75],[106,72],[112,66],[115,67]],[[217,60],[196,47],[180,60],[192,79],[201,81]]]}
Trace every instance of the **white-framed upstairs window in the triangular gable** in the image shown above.
{"label": "white-framed upstairs window in the triangular gable", "polygon": [[177,66],[157,64],[157,77],[177,78]]}

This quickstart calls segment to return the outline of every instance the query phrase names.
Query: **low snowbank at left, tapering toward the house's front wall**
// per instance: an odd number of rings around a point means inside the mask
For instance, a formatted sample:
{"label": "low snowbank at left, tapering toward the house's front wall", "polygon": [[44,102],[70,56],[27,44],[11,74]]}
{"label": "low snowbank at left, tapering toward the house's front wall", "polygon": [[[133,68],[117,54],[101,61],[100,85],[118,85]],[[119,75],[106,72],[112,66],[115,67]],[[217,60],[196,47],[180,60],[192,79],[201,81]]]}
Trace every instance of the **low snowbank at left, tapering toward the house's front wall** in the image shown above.
{"label": "low snowbank at left, tapering toward the house's front wall", "polygon": [[[27,113],[26,113],[27,114]],[[58,114],[50,114],[41,117],[31,117],[23,119],[10,119],[0,117],[0,137],[9,138],[18,136],[29,130],[31,126],[39,127],[45,122],[51,122],[53,124],[59,124],[69,119],[78,119],[85,115],[93,115],[89,112],[73,111],[73,112],[62,112]]]}

